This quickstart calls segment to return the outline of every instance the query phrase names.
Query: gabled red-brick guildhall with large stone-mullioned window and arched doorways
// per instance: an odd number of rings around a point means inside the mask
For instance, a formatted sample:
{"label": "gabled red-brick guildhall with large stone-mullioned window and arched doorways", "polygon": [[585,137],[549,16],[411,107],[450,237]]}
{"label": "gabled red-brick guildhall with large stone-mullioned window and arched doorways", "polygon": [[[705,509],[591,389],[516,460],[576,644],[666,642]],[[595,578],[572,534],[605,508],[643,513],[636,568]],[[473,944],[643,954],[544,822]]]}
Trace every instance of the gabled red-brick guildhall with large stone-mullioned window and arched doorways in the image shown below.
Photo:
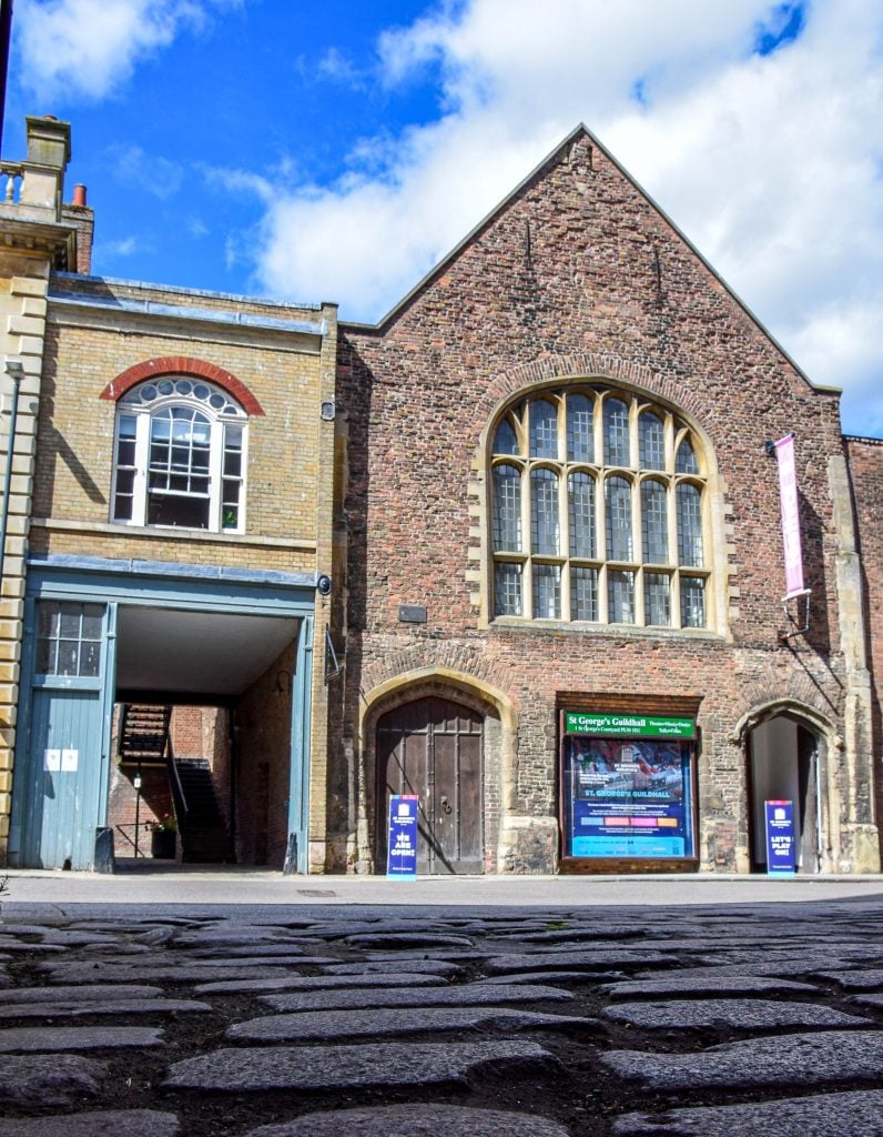
{"label": "gabled red-brick guildhall with large stone-mullioned window and arched doorways", "polygon": [[[391,791],[435,872],[765,869],[770,799],[800,871],[878,866],[838,395],[595,139],[342,324],[339,359],[334,868],[382,869]],[[791,433],[783,604],[766,443]]]}

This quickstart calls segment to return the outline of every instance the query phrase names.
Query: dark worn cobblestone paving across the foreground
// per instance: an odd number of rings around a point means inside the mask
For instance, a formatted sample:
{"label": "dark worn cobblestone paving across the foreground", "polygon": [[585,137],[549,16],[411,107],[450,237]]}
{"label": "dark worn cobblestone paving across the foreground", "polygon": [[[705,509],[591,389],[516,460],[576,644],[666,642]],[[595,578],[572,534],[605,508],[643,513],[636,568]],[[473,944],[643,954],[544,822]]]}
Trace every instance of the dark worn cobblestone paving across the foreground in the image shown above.
{"label": "dark worn cobblestone paving across the foreground", "polygon": [[883,901],[3,915],[0,1137],[883,1137]]}

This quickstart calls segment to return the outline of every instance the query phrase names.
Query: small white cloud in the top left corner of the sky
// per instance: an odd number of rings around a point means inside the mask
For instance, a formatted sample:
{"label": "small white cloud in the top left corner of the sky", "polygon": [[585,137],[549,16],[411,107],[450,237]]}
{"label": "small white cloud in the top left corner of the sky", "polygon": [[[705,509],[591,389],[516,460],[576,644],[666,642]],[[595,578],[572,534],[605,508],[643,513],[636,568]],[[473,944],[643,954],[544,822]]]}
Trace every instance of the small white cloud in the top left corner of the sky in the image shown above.
{"label": "small white cloud in the top left corner of the sky", "polygon": [[19,0],[16,41],[22,83],[41,99],[64,91],[88,99],[113,93],[135,64],[199,30],[210,7],[239,0]]}

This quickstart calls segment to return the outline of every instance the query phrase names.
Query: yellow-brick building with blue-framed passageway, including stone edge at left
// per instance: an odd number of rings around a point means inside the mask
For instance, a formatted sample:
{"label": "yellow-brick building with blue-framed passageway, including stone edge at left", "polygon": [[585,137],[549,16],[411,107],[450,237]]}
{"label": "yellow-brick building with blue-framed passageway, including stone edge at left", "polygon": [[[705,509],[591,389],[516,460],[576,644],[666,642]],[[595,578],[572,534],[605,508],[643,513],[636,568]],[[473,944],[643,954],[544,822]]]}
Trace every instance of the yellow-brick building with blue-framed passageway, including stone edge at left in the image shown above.
{"label": "yellow-brick building with blue-framed passageway, including stone edge at left", "polygon": [[89,868],[144,852],[176,815],[186,860],[306,871],[324,808],[335,309],[88,275],[83,192],[60,206],[68,158],[67,124],[28,119],[0,213],[2,350],[24,367],[2,852]]}

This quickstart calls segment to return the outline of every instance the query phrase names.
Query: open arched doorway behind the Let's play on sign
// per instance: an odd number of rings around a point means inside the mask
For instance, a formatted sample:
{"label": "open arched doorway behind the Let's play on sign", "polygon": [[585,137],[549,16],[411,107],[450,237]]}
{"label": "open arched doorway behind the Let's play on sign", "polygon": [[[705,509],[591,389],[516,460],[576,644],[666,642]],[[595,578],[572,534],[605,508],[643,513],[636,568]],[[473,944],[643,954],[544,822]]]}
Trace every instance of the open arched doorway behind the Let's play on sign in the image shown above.
{"label": "open arched doorway behind the Let's play on sign", "polygon": [[822,864],[822,739],[789,714],[758,723],[747,735],[749,852],[751,871],[766,872],[764,803],[793,803],[797,871],[816,873]]}

